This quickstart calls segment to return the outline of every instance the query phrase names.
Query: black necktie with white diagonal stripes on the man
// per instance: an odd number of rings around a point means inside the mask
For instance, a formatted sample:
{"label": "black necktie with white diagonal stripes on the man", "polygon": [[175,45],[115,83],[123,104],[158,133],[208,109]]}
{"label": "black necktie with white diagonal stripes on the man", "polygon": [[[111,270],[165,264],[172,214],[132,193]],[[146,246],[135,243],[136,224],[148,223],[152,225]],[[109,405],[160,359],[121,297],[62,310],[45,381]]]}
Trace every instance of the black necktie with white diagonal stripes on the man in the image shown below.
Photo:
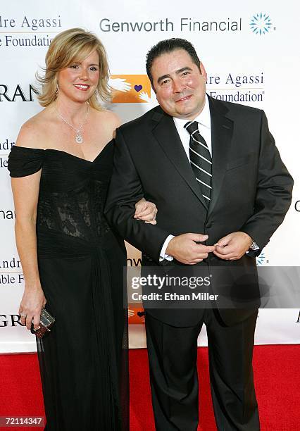
{"label": "black necktie with white diagonal stripes on the man", "polygon": [[189,161],[208,208],[211,200],[212,161],[205,139],[200,135],[198,124],[197,121],[188,121],[185,124],[185,129],[191,135],[189,139]]}

